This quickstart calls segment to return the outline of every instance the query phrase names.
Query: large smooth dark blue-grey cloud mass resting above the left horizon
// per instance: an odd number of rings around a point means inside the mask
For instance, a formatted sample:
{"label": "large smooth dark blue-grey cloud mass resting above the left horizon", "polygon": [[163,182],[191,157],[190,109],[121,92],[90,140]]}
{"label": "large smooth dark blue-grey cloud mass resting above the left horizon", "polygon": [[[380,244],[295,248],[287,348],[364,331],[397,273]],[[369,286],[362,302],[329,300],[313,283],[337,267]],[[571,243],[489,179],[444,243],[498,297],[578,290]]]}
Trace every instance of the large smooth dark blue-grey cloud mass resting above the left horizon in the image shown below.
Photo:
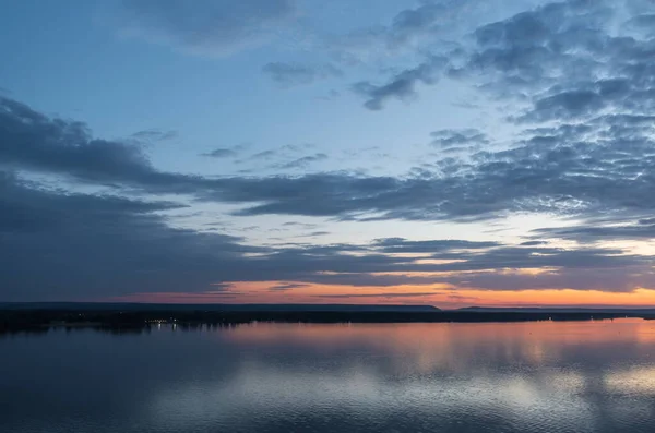
{"label": "large smooth dark blue-grey cloud mass resting above the left horizon", "polygon": [[176,207],[43,190],[2,173],[2,299],[97,299],[182,287],[193,291],[252,251],[237,238],[168,227],[160,212]]}

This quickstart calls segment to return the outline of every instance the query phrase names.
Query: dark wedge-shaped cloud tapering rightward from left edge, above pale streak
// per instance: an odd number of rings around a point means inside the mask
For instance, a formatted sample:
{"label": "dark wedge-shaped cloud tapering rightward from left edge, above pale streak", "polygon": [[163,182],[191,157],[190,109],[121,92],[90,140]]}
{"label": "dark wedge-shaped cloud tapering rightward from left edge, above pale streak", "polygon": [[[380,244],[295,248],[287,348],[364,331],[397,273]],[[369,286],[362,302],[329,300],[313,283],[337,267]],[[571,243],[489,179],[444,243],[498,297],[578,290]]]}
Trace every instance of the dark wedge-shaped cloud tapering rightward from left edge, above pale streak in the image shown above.
{"label": "dark wedge-shaped cloud tapering rightward from left edge, above pale streak", "polygon": [[2,166],[153,191],[192,191],[203,183],[196,177],[156,170],[139,145],[94,139],[82,122],[51,119],[0,97]]}

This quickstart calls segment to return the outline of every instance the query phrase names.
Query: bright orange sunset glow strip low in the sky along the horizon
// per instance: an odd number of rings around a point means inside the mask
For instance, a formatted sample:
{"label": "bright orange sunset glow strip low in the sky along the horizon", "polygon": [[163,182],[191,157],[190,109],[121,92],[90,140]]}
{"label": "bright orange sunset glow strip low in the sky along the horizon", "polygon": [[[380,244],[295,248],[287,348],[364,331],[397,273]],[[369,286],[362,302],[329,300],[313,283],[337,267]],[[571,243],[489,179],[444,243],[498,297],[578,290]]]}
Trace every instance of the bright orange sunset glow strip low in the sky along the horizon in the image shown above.
{"label": "bright orange sunset glow strip low in the sky along the horizon", "polygon": [[430,286],[355,287],[290,281],[234,282],[224,290],[134,293],[108,301],[153,303],[344,303],[463,306],[652,306],[655,289],[631,292],[599,290],[481,290],[448,284]]}

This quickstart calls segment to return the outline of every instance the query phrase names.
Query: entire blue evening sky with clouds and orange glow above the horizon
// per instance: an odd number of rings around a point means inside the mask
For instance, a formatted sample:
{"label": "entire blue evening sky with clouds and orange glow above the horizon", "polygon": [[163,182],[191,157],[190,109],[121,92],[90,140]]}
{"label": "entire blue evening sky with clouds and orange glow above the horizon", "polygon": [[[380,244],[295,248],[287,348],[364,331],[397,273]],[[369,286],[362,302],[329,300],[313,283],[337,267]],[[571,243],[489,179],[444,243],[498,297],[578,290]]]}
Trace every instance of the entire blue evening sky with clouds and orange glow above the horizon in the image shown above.
{"label": "entire blue evening sky with clouds and orange glow above the horizon", "polygon": [[0,301],[655,305],[652,0],[0,7]]}

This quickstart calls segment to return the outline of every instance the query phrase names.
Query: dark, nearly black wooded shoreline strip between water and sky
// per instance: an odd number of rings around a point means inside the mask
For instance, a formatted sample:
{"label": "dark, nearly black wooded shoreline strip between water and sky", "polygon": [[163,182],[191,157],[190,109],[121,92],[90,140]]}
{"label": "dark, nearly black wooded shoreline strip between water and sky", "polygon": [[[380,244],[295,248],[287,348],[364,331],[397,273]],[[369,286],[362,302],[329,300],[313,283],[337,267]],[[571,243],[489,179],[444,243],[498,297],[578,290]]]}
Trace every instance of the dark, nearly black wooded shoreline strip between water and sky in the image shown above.
{"label": "dark, nearly black wooded shoreline strip between water and sky", "polygon": [[[177,305],[176,305],[177,306]],[[483,323],[591,321],[638,317],[655,320],[650,311],[478,311],[456,310],[211,310],[196,309],[14,309],[0,310],[0,333],[40,332],[50,327],[143,329],[157,324],[181,327],[272,323]]]}

